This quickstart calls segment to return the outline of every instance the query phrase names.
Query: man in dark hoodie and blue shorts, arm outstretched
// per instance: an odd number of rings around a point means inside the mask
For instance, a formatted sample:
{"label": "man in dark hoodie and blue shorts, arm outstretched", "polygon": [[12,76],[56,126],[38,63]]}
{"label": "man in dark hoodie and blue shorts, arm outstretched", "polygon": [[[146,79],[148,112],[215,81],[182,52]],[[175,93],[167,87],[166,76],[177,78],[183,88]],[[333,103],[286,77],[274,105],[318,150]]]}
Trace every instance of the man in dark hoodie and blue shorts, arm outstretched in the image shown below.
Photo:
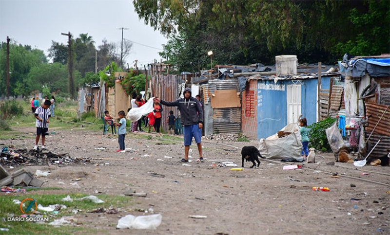
{"label": "man in dark hoodie and blue shorts, arm outstretched", "polygon": [[199,161],[203,162],[201,132],[199,131],[203,127],[203,110],[199,101],[191,96],[190,88],[184,89],[183,94],[184,99],[178,99],[174,102],[166,102],[158,98],[154,98],[154,101],[165,106],[177,106],[180,109],[180,122],[184,126],[184,158],[181,162],[188,162],[188,152],[193,137],[198,146]]}

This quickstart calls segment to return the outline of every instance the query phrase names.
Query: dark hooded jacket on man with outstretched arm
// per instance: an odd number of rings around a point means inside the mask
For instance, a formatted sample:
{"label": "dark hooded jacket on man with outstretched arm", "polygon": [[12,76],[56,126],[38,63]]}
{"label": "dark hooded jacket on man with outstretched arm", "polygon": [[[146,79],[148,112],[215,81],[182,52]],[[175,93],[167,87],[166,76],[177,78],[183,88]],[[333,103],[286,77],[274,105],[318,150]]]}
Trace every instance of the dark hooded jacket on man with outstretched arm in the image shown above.
{"label": "dark hooded jacket on man with outstretched arm", "polygon": [[[200,107],[198,99],[191,96],[191,89],[186,88],[184,92],[190,91],[190,98],[178,99],[174,102],[166,102],[161,100],[162,105],[166,106],[177,106],[180,109],[180,122],[183,126],[195,125],[198,123],[203,124],[203,110]],[[183,94],[184,94],[183,92]]]}

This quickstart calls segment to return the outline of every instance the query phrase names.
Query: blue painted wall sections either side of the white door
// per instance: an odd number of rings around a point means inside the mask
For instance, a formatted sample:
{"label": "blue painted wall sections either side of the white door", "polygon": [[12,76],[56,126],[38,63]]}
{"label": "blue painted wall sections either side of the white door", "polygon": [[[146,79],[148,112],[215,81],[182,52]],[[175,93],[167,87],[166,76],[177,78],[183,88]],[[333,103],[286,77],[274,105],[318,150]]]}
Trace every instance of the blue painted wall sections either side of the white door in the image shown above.
{"label": "blue painted wall sections either side of the white door", "polygon": [[[322,77],[322,89],[328,89],[331,77]],[[291,80],[257,81],[257,138],[267,138],[287,125],[287,85]],[[317,79],[302,80],[301,113],[308,125],[316,121]]]}

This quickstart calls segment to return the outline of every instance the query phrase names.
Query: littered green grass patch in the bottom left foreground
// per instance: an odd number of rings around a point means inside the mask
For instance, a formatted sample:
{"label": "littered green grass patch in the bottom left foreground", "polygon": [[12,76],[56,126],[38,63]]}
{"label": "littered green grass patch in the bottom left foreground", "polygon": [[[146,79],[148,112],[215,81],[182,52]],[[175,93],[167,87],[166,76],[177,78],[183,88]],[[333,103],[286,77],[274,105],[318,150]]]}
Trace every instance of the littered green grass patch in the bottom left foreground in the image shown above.
{"label": "littered green grass patch in the bottom left foreground", "polygon": [[[53,189],[53,188],[47,188]],[[37,204],[42,206],[62,204],[67,206],[66,209],[59,211],[59,214],[53,214],[52,212],[41,212],[43,215],[50,217],[50,221],[54,219],[59,219],[62,216],[72,216],[72,210],[78,209],[81,210],[78,214],[87,214],[88,212],[100,208],[121,208],[122,210],[131,209],[136,202],[131,197],[127,196],[117,196],[117,195],[98,195],[97,197],[101,200],[104,200],[103,203],[96,204],[87,200],[73,200],[73,201],[61,201],[65,198],[67,194],[50,194],[50,195],[36,195],[36,194],[26,194],[26,195],[4,195],[0,198],[0,217],[7,218],[9,214],[14,214],[15,217],[20,217],[21,211],[20,206],[14,204],[13,200],[18,199],[20,201],[24,199],[36,199]],[[82,198],[88,196],[87,194],[69,194],[73,199]],[[29,203],[25,203],[26,206]],[[26,208],[24,207],[24,209]],[[35,206],[33,208],[35,210]],[[60,227],[54,227],[47,224],[37,224],[30,221],[7,221],[1,220],[2,228],[9,228],[7,234],[96,234],[95,229],[83,228],[83,227],[74,227],[72,225],[65,225]],[[10,227],[8,227],[10,226]],[[99,231],[102,232],[102,231]]]}

